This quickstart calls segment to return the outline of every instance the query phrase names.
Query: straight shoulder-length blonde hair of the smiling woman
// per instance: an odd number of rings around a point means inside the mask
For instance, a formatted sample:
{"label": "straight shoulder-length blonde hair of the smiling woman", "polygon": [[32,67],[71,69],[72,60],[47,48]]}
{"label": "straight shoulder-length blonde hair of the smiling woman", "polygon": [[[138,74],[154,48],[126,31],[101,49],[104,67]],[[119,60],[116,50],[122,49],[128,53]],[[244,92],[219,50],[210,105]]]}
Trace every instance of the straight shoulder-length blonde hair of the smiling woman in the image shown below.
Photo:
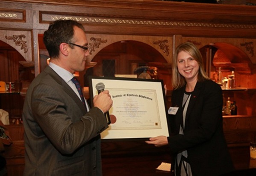
{"label": "straight shoulder-length blonde hair of the smiling woman", "polygon": [[177,68],[177,56],[178,56],[179,52],[181,52],[181,51],[185,51],[188,54],[190,54],[191,57],[193,57],[193,59],[195,61],[197,61],[197,63],[199,64],[199,73],[197,76],[198,81],[210,79],[204,70],[203,57],[202,57],[199,49],[193,43],[189,43],[189,42],[182,43],[176,48],[174,57],[173,57],[172,85],[173,85],[174,89],[181,88],[181,87],[185,86],[185,84],[186,84],[185,78],[181,74],[179,74],[179,71]]}

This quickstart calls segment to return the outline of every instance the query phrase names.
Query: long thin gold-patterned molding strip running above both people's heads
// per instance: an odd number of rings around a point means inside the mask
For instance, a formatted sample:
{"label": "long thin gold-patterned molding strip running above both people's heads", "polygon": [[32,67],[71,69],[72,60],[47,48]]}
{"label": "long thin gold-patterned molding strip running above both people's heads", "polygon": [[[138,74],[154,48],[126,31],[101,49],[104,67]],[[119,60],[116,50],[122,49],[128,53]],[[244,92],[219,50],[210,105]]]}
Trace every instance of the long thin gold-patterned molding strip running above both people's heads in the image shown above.
{"label": "long thin gold-patterned molding strip running above both people's heads", "polygon": [[256,25],[239,24],[217,24],[217,23],[191,23],[191,22],[171,22],[156,20],[123,20],[97,17],[75,17],[75,16],[50,16],[50,20],[76,20],[83,23],[111,23],[111,24],[129,24],[129,25],[154,25],[154,26],[189,26],[189,27],[207,27],[207,28],[248,28],[255,29]]}

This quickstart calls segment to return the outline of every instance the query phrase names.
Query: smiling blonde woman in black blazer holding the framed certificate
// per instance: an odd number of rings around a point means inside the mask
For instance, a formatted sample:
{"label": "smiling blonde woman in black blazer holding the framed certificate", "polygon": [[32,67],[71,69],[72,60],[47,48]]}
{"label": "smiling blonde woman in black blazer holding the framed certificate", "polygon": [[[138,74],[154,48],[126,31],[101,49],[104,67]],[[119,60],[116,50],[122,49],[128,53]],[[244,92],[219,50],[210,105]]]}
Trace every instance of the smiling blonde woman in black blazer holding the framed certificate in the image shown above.
{"label": "smiling blonde woman in black blazer holding the framed certificate", "polygon": [[200,51],[183,43],[173,59],[171,135],[146,141],[169,145],[176,176],[219,176],[234,170],[222,126],[221,87],[206,75]]}

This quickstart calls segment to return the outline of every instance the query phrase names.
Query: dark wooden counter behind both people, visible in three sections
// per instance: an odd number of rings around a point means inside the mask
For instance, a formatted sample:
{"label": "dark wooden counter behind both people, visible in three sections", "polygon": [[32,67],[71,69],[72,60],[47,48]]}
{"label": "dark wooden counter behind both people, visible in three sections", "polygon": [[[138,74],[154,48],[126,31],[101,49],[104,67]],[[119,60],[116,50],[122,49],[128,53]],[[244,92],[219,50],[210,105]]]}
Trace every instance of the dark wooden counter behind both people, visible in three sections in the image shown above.
{"label": "dark wooden counter behind both people, visible in three sections", "polygon": [[[236,172],[232,176],[255,176],[256,160],[250,159],[249,142],[256,136],[256,117],[224,118],[224,134]],[[236,125],[233,123],[236,122]],[[239,124],[239,125],[238,125]],[[4,156],[8,176],[22,176],[24,170],[23,125],[7,125],[13,144],[7,146]],[[156,148],[144,140],[102,140],[103,176],[170,176],[157,171],[161,162],[171,163],[168,146]]]}

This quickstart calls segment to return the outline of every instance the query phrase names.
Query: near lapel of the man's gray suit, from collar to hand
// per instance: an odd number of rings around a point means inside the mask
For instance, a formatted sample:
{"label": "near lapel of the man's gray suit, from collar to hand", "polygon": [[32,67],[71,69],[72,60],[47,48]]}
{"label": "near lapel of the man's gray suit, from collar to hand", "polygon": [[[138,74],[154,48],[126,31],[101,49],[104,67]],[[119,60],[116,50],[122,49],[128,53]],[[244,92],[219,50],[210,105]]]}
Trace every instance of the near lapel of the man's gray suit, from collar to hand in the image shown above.
{"label": "near lapel of the man's gray suit, from collar to hand", "polygon": [[44,69],[59,85],[62,86],[63,91],[65,91],[77,104],[77,106],[81,109],[83,114],[87,111],[85,106],[82,104],[82,101],[79,99],[77,94],[72,90],[72,88],[49,66]]}

